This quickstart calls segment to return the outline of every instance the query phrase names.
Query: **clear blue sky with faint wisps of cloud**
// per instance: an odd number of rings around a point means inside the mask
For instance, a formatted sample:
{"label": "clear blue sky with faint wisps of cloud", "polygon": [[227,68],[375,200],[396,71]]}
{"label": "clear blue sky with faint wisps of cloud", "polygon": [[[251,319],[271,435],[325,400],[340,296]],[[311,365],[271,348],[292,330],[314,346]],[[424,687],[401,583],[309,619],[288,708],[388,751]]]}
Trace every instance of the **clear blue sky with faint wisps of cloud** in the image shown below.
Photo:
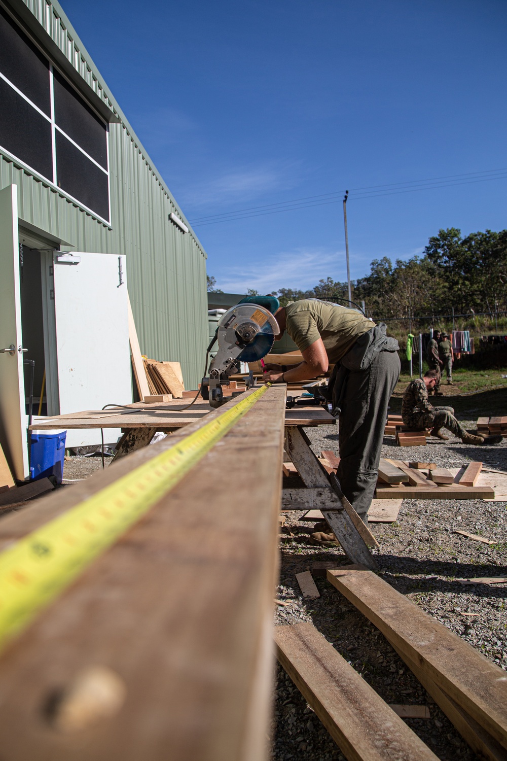
{"label": "clear blue sky with faint wisps of cloud", "polygon": [[352,278],[439,228],[507,227],[507,170],[473,174],[507,167],[505,0],[62,5],[224,291],[346,279],[344,189]]}

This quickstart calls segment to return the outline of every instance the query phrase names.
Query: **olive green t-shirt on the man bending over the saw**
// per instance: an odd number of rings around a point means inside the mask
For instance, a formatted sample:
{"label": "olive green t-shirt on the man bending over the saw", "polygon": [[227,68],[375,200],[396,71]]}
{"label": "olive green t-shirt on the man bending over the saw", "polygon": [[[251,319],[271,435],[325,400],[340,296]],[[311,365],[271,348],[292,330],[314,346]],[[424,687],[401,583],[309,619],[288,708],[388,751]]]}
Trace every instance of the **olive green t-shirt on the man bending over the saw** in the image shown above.
{"label": "olive green t-shirt on the man bending over the saw", "polygon": [[327,301],[303,298],[285,307],[287,333],[300,352],[322,338],[331,363],[347,354],[359,336],[375,327],[372,320],[354,309]]}

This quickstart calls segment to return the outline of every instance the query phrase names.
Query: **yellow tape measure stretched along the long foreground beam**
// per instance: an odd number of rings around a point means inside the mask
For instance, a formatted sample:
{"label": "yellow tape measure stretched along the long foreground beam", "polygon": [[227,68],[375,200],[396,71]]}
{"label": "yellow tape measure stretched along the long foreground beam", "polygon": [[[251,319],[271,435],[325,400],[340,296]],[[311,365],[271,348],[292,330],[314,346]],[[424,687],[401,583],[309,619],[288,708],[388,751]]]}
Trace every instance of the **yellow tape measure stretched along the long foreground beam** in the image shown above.
{"label": "yellow tape measure stretched along the long foreground beam", "polygon": [[267,388],[1,552],[0,648],[169,492]]}

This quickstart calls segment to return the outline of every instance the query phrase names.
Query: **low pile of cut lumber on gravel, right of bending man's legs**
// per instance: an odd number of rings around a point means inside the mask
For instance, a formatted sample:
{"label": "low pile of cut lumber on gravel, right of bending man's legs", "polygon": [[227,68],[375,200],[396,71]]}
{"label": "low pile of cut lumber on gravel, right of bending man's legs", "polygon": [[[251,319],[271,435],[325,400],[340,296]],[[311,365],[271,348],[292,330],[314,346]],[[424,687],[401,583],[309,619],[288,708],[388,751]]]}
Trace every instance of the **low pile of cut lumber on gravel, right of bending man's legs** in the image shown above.
{"label": "low pile of cut lumber on gravel, right of bending man's legs", "polygon": [[[427,469],[420,466],[426,465]],[[464,473],[453,476],[435,463],[380,460],[377,499],[494,499],[490,486],[476,486],[482,463],[470,463]],[[427,470],[427,474],[425,473]]]}

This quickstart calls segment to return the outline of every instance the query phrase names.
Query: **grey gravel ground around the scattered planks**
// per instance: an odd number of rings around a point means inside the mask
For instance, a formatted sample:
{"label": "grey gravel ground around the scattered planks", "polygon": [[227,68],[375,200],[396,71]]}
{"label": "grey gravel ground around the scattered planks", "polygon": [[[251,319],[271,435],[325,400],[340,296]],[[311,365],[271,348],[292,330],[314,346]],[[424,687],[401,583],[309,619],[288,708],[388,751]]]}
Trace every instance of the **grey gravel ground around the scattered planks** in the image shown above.
{"label": "grey gravel ground around the scattered planks", "polygon": [[[493,413],[492,413],[493,414]],[[471,431],[473,421],[464,425]],[[337,428],[307,428],[312,448],[337,451]],[[494,447],[474,447],[453,437],[426,447],[401,449],[386,437],[383,457],[435,462],[459,467],[481,460],[495,470],[507,471],[507,440]],[[438,443],[437,443],[438,442]],[[410,454],[409,454],[410,453]],[[331,642],[363,678],[388,703],[428,705],[429,720],[406,719],[440,759],[476,759],[414,675],[375,626],[324,578],[315,578],[321,597],[303,601],[295,574],[320,560],[347,562],[341,548],[323,552],[309,545],[313,522],[301,521],[301,511],[287,513],[287,540],[281,540],[280,586],[277,599],[290,600],[276,607],[278,626],[309,621]],[[379,568],[395,589],[420,605],[444,626],[470,642],[507,670],[507,585],[463,586],[458,578],[507,575],[507,520],[505,502],[482,500],[404,500],[398,521],[370,526],[381,544]],[[473,542],[454,528],[495,540],[488,546]],[[290,533],[294,536],[290,537]],[[466,616],[465,613],[478,613]],[[330,735],[284,670],[277,666],[272,727],[272,758],[343,759]]]}

